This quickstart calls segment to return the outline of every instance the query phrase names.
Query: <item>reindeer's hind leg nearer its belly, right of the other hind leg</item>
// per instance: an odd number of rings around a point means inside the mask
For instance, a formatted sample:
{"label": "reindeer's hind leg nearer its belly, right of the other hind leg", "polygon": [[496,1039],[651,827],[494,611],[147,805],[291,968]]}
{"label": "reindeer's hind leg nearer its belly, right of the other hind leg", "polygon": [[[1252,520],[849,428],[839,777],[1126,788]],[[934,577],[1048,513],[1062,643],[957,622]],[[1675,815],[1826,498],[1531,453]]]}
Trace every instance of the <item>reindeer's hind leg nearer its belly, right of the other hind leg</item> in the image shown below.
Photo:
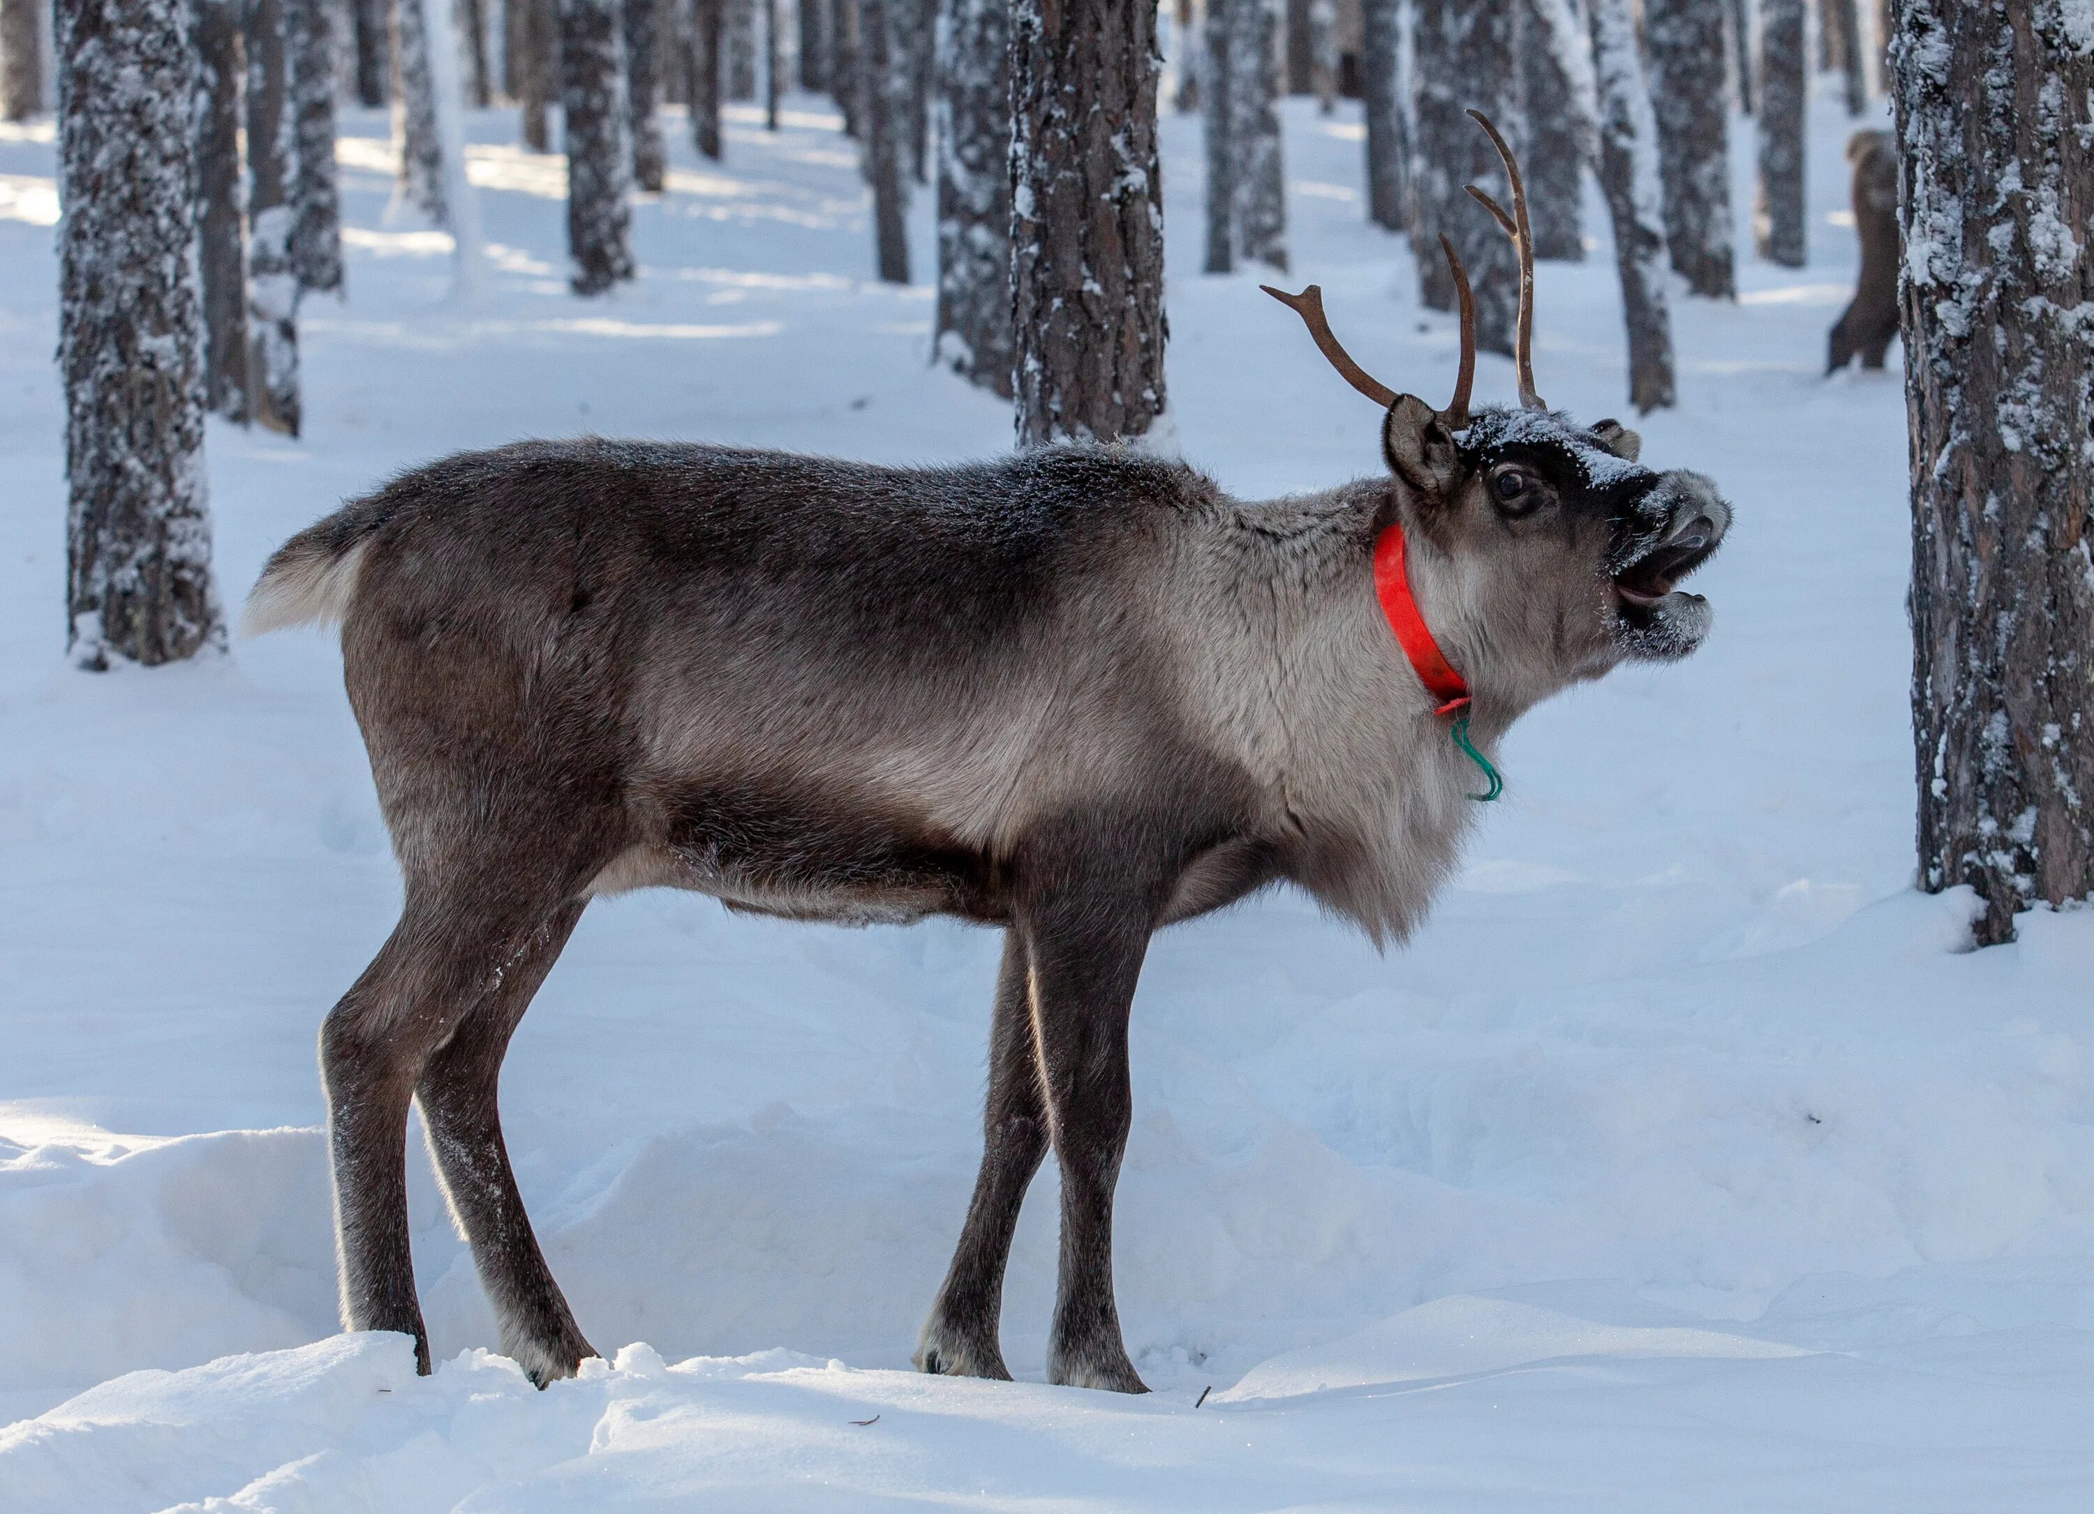
{"label": "reindeer's hind leg nearer its belly, right of the other hind leg", "polygon": [[503,980],[429,1057],[415,1089],[450,1212],[473,1246],[480,1284],[494,1305],[503,1355],[521,1363],[540,1388],[555,1378],[572,1378],[597,1351],[576,1328],[524,1212],[503,1143],[496,1087],[509,1037],[580,917],[578,900],[563,905],[540,928]]}

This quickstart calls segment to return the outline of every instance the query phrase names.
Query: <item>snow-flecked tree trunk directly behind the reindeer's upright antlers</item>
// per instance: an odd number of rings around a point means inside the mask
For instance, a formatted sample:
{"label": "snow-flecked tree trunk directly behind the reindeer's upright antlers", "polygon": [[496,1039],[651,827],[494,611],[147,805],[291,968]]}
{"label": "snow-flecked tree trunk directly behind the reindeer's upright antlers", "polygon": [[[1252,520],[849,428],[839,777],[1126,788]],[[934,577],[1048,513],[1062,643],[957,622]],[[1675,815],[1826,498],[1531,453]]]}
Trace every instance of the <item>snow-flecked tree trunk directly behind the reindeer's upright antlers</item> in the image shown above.
{"label": "snow-flecked tree trunk directly behind the reindeer's upright antlers", "polygon": [[1514,6],[1499,0],[1420,0],[1416,38],[1411,251],[1418,258],[1418,283],[1428,306],[1453,310],[1453,276],[1439,245],[1445,232],[1476,291],[1476,346],[1510,354],[1520,262],[1512,239],[1468,197],[1464,184],[1476,184],[1499,205],[1510,203],[1506,165],[1468,111],[1489,115],[1514,144],[1524,140]]}

